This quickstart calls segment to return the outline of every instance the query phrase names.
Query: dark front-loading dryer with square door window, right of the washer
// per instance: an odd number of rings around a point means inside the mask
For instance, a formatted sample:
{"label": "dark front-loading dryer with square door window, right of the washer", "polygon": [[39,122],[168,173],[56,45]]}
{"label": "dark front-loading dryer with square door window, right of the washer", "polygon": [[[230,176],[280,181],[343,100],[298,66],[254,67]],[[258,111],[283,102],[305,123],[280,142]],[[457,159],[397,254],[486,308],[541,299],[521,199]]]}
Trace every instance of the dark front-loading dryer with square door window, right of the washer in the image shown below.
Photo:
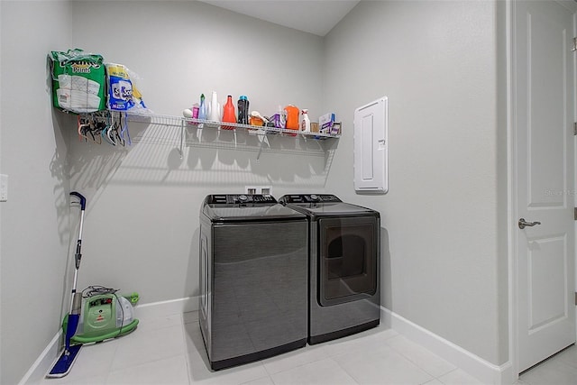
{"label": "dark front-loading dryer with square door window, right of the washer", "polygon": [[379,325],[379,212],[330,194],[286,195],[279,202],[308,218],[308,344]]}

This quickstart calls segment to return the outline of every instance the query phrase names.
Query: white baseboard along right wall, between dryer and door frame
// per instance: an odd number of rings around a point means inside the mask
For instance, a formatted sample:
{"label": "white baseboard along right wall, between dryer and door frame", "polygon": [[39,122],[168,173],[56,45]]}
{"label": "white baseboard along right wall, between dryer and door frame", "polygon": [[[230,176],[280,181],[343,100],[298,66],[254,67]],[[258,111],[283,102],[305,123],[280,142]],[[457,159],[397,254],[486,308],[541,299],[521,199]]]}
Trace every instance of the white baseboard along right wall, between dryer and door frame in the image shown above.
{"label": "white baseboard along right wall, between dryer and door frame", "polygon": [[502,365],[490,363],[424,327],[414,324],[407,318],[391,312],[388,308],[380,307],[380,315],[384,325],[388,325],[398,334],[406,336],[444,360],[453,363],[483,383],[504,385],[512,384],[517,380],[510,361]]}

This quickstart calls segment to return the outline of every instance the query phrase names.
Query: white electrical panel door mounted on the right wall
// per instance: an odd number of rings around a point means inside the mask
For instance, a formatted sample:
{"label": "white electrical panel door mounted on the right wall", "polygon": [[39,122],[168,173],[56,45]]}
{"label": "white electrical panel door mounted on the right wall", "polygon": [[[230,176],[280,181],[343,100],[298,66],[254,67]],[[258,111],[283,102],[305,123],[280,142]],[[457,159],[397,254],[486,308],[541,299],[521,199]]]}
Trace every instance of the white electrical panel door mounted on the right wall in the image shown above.
{"label": "white electrical panel door mounted on the right wall", "polygon": [[383,96],[354,110],[354,189],[389,190],[388,99]]}

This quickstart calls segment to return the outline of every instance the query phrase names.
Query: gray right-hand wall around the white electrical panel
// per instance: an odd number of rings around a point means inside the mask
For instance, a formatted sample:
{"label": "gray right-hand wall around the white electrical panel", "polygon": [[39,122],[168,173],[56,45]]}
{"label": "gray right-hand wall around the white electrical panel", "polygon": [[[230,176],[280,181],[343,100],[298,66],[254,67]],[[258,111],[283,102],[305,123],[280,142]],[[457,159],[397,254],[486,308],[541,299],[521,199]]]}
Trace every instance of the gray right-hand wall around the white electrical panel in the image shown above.
{"label": "gray right-hand wall around the white electrical panel", "polygon": [[[345,127],[326,189],[382,215],[383,305],[500,364],[507,196],[496,16],[492,2],[361,2],[325,38],[323,101]],[[389,193],[355,195],[353,111],[380,96],[389,96]]]}

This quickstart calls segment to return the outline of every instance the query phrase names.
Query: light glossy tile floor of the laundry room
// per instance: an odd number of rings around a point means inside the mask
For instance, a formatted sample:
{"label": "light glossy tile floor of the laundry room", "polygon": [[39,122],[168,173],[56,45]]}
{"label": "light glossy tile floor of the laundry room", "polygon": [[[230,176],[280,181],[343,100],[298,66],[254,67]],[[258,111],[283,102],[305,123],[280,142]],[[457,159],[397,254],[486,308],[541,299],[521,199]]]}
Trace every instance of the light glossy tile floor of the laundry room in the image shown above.
{"label": "light glossy tile floor of the laundry room", "polygon": [[[481,384],[395,331],[367,332],[223,371],[210,371],[197,312],[142,320],[131,335],[86,345],[60,384]],[[577,384],[572,347],[523,374],[521,385]]]}

